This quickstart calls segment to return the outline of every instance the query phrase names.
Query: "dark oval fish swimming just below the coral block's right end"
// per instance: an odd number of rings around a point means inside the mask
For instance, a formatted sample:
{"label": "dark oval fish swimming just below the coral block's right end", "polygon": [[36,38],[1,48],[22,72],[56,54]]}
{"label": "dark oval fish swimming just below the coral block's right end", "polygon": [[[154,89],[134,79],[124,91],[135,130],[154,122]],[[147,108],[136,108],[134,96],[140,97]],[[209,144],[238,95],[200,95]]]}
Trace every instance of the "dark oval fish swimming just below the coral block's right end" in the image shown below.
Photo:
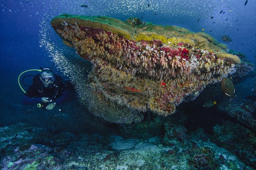
{"label": "dark oval fish swimming just below the coral block's right end", "polygon": [[233,82],[229,79],[229,78],[222,78],[221,80],[221,90],[224,92],[225,96],[230,97],[230,101],[233,100],[233,98],[236,97],[236,95],[234,95],[235,93],[235,87]]}

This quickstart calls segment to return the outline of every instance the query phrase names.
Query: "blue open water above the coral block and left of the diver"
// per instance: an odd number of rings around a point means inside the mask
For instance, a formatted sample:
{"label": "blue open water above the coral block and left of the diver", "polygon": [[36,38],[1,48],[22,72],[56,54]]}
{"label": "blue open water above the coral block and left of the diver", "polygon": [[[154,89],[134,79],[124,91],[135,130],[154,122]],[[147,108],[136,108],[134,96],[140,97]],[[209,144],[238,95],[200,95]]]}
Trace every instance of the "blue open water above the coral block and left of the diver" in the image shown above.
{"label": "blue open water above the coral block and left of the diver", "polygon": [[47,40],[44,35],[54,39],[51,43],[57,43],[59,49],[64,46],[49,24],[58,14],[103,15],[120,20],[143,17],[146,22],[181,26],[193,32],[204,29],[219,42],[223,42],[221,36],[229,35],[233,39],[227,43],[229,48],[256,63],[256,0],[248,0],[246,6],[244,3],[245,0],[0,0],[0,114],[8,114],[6,108],[21,104],[23,92],[17,84],[20,72],[52,66],[55,53],[42,42]]}

